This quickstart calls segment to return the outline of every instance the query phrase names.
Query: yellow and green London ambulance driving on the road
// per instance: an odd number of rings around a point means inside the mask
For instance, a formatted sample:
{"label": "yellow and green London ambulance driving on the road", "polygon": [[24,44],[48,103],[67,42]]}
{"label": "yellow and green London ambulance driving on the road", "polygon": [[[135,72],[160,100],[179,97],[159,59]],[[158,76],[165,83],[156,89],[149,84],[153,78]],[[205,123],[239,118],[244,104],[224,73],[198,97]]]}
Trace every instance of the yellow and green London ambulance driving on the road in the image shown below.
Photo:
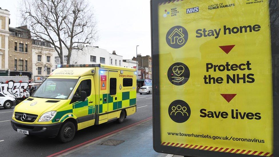
{"label": "yellow and green London ambulance driving on the road", "polygon": [[13,111],[13,129],[69,142],[77,130],[136,112],[136,70],[102,64],[62,65]]}

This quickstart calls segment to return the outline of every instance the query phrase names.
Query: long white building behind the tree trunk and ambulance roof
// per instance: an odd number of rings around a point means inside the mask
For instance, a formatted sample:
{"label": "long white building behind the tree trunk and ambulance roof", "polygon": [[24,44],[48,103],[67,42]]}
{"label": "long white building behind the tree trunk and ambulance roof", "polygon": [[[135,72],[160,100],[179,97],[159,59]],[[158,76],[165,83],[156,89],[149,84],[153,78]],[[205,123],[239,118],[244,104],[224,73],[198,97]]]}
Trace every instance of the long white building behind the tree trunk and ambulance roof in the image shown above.
{"label": "long white building behind the tree trunk and ambulance roof", "polygon": [[[106,64],[122,66],[122,56],[110,54],[107,50],[94,46],[86,46],[81,50],[72,50],[70,64]],[[67,64],[68,50],[63,47],[63,64]],[[119,65],[120,63],[120,65]],[[58,54],[55,54],[55,66],[60,64]]]}

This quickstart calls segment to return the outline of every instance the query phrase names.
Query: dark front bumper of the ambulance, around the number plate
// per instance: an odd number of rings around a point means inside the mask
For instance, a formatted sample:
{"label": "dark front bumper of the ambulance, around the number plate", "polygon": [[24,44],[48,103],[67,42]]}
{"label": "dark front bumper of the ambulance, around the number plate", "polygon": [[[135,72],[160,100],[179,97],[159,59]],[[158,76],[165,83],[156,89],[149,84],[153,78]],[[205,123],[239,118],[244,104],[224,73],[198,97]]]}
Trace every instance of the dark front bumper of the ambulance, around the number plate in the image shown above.
{"label": "dark front bumper of the ambulance, around the number plate", "polygon": [[[11,120],[13,130],[17,129],[26,130],[29,135],[43,136],[43,137],[56,137],[62,123],[55,124],[22,124]],[[43,129],[43,127],[45,129]]]}

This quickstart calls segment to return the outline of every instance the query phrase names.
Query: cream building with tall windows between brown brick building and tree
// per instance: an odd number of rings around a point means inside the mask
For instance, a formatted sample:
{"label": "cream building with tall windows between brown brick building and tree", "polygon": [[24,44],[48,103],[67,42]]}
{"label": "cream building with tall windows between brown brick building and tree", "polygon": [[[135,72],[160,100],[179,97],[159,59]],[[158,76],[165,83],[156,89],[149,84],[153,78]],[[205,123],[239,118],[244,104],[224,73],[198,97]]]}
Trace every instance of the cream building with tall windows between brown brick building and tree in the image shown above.
{"label": "cream building with tall windows between brown brick building and tree", "polygon": [[32,41],[32,82],[41,83],[55,69],[54,56],[57,52],[47,42]]}

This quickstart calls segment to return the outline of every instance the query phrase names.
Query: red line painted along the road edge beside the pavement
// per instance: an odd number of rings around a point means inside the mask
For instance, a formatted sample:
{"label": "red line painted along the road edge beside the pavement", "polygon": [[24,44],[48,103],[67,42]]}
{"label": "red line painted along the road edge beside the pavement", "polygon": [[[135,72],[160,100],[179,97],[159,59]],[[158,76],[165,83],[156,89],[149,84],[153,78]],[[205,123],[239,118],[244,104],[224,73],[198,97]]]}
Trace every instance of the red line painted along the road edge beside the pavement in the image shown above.
{"label": "red line painted along the road edge beside the pavement", "polygon": [[131,127],[131,126],[134,126],[134,125],[136,125],[136,124],[139,124],[139,123],[141,123],[141,122],[148,121],[148,120],[150,120],[150,119],[152,119],[152,117],[149,117],[149,118],[147,118],[147,119],[145,119],[145,120],[141,120],[141,121],[136,122],[136,123],[134,123],[134,124],[125,126],[125,127],[120,128],[120,129],[118,129],[118,130],[114,130],[114,131],[112,131],[112,132],[109,132],[109,133],[104,134],[104,135],[102,135],[102,136],[99,136],[99,137],[97,137],[97,138],[93,138],[92,140],[88,140],[88,141],[83,142],[83,143],[81,143],[81,144],[75,145],[75,146],[73,146],[73,147],[71,147],[71,148],[67,148],[67,149],[65,149],[65,150],[61,150],[60,152],[51,154],[51,155],[49,155],[49,156],[47,156],[47,157],[58,156],[58,155],[60,155],[60,154],[63,154],[63,153],[65,153],[65,152],[68,152],[68,151],[73,150],[73,149],[75,149],[75,148],[84,146],[85,144],[88,144],[88,143],[90,143],[90,142],[99,140],[99,139],[101,139],[101,138],[103,138],[103,137],[105,137],[105,136],[109,136],[109,135],[111,135],[111,134],[113,134],[113,133],[115,133],[115,132],[119,132],[119,131],[121,131],[121,130],[124,130],[124,129],[126,129],[126,128],[129,128],[129,127]]}

